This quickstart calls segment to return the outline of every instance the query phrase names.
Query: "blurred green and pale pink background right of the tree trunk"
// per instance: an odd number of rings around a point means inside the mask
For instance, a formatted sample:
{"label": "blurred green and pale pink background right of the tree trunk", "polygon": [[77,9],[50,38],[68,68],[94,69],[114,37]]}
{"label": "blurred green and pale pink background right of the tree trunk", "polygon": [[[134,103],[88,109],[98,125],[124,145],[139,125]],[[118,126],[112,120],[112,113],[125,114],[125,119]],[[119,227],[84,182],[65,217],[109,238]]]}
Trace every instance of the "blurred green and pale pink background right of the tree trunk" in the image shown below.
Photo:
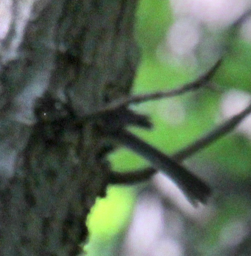
{"label": "blurred green and pale pink background right of the tree trunk", "polygon": [[[139,0],[135,37],[141,61],[134,93],[179,87],[223,56],[214,90],[132,106],[151,116],[152,131],[132,129],[172,154],[240,112],[251,100],[250,0]],[[184,161],[207,181],[207,205],[192,206],[163,174],[134,186],[110,186],[88,218],[88,256],[251,255],[251,117]],[[109,156],[113,169],[147,163],[126,149]]]}

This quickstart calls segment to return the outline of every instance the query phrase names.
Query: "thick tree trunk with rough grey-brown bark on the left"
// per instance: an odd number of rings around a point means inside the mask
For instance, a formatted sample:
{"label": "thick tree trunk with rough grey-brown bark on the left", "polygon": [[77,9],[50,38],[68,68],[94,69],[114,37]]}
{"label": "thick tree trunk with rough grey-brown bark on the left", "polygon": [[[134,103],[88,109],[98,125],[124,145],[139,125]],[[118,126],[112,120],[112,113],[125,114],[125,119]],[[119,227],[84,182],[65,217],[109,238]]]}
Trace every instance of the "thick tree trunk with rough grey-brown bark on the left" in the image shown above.
{"label": "thick tree trunk with rough grey-brown bark on the left", "polygon": [[106,138],[92,122],[44,125],[34,108],[40,111],[40,98],[54,111],[47,91],[59,102],[70,100],[81,116],[129,93],[138,57],[136,1],[5,2],[0,255],[77,255],[88,234],[86,216],[105,196],[109,164],[98,156]]}

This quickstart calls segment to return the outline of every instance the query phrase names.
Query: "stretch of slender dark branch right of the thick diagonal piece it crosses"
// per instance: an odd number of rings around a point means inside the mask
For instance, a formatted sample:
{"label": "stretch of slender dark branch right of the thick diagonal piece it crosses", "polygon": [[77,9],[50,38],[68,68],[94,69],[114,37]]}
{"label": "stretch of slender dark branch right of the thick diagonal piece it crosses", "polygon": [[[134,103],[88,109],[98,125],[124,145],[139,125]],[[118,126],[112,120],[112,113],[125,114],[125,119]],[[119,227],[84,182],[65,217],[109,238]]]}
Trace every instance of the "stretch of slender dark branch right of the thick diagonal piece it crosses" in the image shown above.
{"label": "stretch of slender dark branch right of the thick diagonal piece it crosses", "polygon": [[208,134],[203,135],[200,139],[194,143],[186,146],[184,149],[179,150],[177,153],[172,155],[177,161],[181,161],[191,155],[195,154],[201,149],[204,149],[209,144],[213,143],[226,133],[232,131],[248,114],[251,113],[251,104],[245,108],[241,113],[234,115],[229,120],[219,125]]}

